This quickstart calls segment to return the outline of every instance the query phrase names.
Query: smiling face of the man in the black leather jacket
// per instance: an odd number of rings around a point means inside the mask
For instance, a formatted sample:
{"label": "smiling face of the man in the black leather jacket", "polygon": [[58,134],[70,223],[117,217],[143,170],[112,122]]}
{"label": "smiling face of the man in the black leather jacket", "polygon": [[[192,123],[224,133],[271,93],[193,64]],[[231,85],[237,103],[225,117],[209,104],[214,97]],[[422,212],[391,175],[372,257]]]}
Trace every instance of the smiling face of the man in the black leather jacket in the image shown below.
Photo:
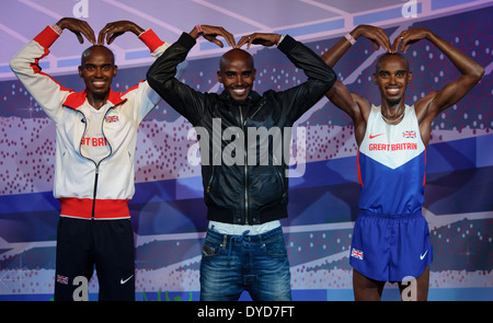
{"label": "smiling face of the man in the black leather jacket", "polygon": [[234,48],[222,55],[217,78],[234,101],[243,102],[253,88],[255,73],[253,57]]}

